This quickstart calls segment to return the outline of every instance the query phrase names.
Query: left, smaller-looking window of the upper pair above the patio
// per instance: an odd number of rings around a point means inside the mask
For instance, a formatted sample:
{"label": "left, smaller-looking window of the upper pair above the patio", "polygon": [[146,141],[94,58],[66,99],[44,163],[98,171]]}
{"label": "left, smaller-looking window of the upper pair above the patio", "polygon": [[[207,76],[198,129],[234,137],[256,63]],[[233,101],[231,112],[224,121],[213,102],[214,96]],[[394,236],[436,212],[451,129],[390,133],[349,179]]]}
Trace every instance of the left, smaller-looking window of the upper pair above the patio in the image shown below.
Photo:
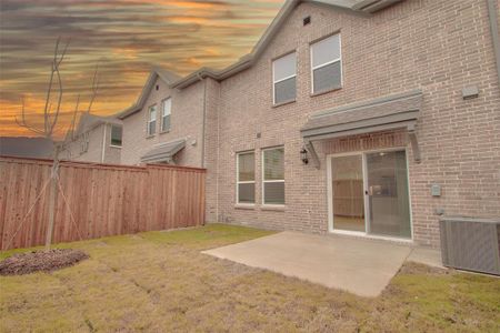
{"label": "left, smaller-looking window of the upper pair above the patio", "polygon": [[297,54],[281,57],[272,62],[273,104],[296,100]]}

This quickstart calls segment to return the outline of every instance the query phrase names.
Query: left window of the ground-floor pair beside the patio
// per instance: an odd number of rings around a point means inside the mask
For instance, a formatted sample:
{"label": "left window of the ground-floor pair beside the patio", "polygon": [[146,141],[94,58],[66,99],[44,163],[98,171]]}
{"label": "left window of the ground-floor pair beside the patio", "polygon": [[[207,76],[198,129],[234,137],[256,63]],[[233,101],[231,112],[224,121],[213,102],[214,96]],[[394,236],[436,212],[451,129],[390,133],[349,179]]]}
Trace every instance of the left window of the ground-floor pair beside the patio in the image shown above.
{"label": "left window of the ground-floor pair beside the patio", "polygon": [[237,203],[256,203],[256,153],[237,154]]}

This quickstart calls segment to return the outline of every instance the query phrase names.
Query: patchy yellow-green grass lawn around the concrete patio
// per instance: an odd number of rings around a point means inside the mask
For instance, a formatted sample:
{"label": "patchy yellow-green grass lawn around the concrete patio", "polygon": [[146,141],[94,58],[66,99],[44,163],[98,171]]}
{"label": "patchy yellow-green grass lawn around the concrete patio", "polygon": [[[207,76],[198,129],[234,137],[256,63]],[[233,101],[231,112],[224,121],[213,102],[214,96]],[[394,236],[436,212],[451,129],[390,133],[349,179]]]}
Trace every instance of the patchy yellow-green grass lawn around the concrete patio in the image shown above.
{"label": "patchy yellow-green grass lawn around the concrete patio", "polygon": [[61,244],[90,259],[0,276],[0,329],[500,332],[500,279],[410,263],[381,296],[363,299],[200,253],[269,233],[213,224]]}

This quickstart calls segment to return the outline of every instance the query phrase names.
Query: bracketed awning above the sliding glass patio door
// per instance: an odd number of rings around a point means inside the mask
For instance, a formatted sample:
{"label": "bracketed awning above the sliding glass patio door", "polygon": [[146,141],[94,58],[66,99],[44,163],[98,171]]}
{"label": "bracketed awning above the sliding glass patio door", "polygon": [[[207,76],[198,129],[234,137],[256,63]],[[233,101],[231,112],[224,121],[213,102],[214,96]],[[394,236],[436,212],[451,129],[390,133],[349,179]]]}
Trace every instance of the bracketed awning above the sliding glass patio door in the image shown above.
{"label": "bracketed awning above the sliding glass patio door", "polygon": [[312,141],[397,129],[408,130],[414,159],[420,161],[414,130],[421,103],[422,92],[412,90],[342,105],[311,114],[300,132],[318,168],[319,161]]}

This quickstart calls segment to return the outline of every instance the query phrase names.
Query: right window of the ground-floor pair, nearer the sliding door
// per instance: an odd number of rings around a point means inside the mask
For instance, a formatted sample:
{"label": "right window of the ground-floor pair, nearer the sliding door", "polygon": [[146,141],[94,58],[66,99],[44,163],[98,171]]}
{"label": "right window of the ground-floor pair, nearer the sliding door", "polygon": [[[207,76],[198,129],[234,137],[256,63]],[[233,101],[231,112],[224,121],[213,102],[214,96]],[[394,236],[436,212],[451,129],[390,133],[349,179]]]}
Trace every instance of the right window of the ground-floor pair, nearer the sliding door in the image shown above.
{"label": "right window of the ground-floor pair, nearer the sliding door", "polygon": [[284,148],[262,151],[262,202],[284,204]]}

